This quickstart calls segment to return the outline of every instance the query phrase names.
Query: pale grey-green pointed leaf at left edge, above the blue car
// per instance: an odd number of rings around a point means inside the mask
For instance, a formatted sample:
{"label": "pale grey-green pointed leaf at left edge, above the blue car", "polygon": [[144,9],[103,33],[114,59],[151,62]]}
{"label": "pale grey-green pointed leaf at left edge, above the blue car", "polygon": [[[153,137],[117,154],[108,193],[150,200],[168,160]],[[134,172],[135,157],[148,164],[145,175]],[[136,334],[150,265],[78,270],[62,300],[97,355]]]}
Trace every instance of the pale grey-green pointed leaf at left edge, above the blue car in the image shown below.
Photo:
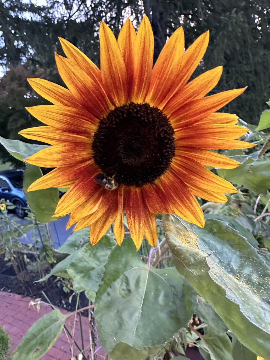
{"label": "pale grey-green pointed leaf at left edge, above the blue car", "polygon": [[5,139],[0,136],[0,143],[8,150],[8,152],[16,159],[23,159],[35,154],[41,149],[48,148],[49,145],[28,144],[19,140]]}

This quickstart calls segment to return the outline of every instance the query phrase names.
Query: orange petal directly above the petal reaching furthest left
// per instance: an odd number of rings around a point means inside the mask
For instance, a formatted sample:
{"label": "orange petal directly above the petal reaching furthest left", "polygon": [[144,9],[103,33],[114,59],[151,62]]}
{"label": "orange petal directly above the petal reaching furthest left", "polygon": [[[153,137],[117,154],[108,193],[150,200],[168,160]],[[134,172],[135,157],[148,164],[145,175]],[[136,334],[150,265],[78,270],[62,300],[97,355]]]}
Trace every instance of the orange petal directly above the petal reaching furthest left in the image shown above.
{"label": "orange petal directly above the petal reaching furthest left", "polygon": [[75,134],[93,133],[98,127],[98,120],[82,108],[79,110],[59,105],[37,105],[26,110],[46,125]]}

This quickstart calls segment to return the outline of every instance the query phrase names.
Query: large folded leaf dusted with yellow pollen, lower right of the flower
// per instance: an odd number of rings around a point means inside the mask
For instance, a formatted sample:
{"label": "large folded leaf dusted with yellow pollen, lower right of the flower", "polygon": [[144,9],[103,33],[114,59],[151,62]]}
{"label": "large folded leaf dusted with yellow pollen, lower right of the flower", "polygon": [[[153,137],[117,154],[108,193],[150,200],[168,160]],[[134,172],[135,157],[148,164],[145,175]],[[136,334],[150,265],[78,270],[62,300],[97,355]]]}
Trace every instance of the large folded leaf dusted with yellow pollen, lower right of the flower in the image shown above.
{"label": "large folded leaf dusted with yellow pollen, lower right of the flower", "polygon": [[179,273],[211,303],[243,345],[267,359],[270,269],[257,250],[219,220],[209,219],[201,229],[165,215],[164,229]]}

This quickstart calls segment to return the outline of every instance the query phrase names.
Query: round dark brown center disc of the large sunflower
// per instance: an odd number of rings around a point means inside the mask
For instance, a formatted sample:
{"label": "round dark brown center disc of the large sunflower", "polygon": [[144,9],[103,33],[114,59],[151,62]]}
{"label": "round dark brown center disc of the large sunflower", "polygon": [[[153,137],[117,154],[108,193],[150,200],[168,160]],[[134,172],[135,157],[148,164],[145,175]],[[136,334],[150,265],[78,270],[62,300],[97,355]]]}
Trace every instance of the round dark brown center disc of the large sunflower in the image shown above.
{"label": "round dark brown center disc of the large sunflower", "polygon": [[175,154],[174,129],[149,104],[116,107],[100,120],[92,144],[95,163],[118,184],[143,186],[166,172]]}

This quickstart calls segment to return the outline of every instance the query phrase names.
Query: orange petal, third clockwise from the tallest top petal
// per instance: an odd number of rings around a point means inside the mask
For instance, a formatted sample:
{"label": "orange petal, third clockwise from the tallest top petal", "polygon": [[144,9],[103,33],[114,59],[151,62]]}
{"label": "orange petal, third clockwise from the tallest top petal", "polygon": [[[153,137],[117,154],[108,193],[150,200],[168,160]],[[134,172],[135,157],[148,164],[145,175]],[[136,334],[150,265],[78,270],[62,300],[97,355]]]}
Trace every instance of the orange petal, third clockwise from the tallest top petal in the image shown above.
{"label": "orange petal, third clockwise from the tallest top petal", "polygon": [[186,102],[194,99],[203,98],[209,93],[219,82],[222,74],[222,66],[218,66],[212,70],[204,72],[196,77],[176,93],[165,105],[162,111],[170,116],[174,111],[179,109]]}

